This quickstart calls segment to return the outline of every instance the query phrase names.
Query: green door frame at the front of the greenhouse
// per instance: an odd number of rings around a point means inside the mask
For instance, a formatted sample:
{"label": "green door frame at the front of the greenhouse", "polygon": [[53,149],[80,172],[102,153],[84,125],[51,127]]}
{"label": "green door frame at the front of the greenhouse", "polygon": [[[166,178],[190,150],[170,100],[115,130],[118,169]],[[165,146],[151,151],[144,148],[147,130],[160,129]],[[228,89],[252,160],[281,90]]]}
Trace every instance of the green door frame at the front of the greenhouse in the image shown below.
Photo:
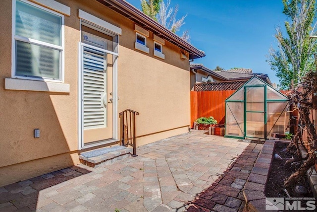
{"label": "green door frame at the front of the greenhouse", "polygon": [[[247,111],[247,90],[252,87],[263,87],[264,88],[264,111]],[[264,138],[258,137],[248,137],[247,136],[247,113],[263,113],[264,114]],[[244,86],[244,138],[258,138],[258,139],[266,139],[266,85],[246,85]]]}

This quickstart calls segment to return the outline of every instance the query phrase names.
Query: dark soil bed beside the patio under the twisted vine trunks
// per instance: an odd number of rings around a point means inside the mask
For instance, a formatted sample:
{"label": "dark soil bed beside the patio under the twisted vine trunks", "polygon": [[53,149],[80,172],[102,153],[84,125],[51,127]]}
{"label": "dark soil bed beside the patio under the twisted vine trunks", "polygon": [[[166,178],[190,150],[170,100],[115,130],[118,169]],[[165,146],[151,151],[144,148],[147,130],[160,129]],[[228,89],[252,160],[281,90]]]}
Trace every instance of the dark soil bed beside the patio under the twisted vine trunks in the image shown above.
{"label": "dark soil bed beside the patio under the twisted vine trunks", "polygon": [[[277,153],[279,156],[283,158],[283,160],[277,160],[273,158],[272,165],[271,165],[271,170],[269,173],[269,178],[266,183],[266,197],[285,197],[289,198],[284,191],[284,181],[292,174],[294,173],[298,167],[295,167],[295,164],[292,167],[285,168],[283,165],[286,162],[286,160],[290,159],[292,157],[291,154],[286,153],[286,147],[287,144],[285,143],[276,143],[274,153]],[[295,192],[295,187],[296,186],[304,186],[305,188],[308,189],[308,193],[305,195],[300,195]],[[302,176],[299,178],[297,181],[296,185],[292,187],[291,190],[288,190],[288,193],[291,198],[313,198],[313,193],[311,191],[311,188],[309,186],[309,182],[307,179],[307,176]],[[302,200],[302,207],[306,207],[306,202],[308,200]],[[292,203],[292,201],[290,201]]]}

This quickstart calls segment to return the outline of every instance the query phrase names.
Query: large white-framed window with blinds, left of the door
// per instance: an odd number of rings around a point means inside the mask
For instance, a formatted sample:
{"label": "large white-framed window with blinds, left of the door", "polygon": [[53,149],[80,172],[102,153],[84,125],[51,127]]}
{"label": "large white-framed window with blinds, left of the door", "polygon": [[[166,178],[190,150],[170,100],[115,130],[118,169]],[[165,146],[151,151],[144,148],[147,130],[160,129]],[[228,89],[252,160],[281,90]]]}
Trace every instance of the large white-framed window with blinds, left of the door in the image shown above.
{"label": "large white-framed window with blinds, left of the door", "polygon": [[12,0],[12,77],[64,81],[64,15]]}

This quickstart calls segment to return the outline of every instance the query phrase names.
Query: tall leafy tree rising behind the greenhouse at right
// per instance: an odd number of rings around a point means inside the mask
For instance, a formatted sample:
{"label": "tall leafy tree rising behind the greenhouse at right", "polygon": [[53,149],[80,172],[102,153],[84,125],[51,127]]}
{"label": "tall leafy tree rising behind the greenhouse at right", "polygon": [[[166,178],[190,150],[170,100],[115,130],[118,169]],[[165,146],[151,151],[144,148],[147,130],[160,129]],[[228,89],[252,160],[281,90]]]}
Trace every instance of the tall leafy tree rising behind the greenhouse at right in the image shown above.
{"label": "tall leafy tree rising behind the greenhouse at right", "polygon": [[282,0],[283,13],[288,21],[285,21],[287,36],[284,36],[280,27],[275,28],[274,37],[277,40],[278,49],[269,49],[267,62],[271,70],[276,71],[280,86],[288,89],[293,80],[295,84],[301,82],[309,71],[314,69],[314,51],[316,39],[310,39],[314,35],[313,26],[316,14],[315,0]]}

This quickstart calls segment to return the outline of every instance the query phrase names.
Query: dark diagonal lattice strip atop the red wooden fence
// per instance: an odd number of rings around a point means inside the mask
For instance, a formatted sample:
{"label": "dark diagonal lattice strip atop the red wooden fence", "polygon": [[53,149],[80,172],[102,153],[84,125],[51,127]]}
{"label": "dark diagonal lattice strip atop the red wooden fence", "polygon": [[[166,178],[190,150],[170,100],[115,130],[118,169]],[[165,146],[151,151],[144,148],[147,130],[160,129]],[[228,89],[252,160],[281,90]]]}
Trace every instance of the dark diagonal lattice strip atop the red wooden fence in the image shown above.
{"label": "dark diagonal lattice strip atop the red wooden fence", "polygon": [[238,90],[247,80],[196,83],[195,91],[205,90]]}

